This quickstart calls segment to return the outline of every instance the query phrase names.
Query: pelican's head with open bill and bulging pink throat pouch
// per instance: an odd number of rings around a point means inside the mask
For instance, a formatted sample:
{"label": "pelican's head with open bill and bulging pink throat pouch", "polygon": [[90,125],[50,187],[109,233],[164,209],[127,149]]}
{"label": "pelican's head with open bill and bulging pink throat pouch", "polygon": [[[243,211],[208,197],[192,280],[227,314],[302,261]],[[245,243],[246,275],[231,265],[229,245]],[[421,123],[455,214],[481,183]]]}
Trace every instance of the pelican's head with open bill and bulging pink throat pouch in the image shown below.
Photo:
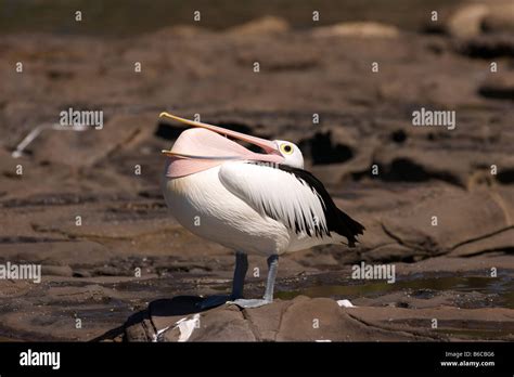
{"label": "pelican's head with open bill and bulging pink throat pouch", "polygon": [[[304,156],[300,150],[288,141],[256,138],[222,127],[180,118],[168,113],[160,113],[159,117],[170,118],[193,127],[179,135],[170,151],[163,151],[163,154],[170,157],[167,177],[178,178],[193,174],[221,165],[227,160],[254,160],[304,168]],[[228,138],[256,145],[264,153],[252,152]]]}

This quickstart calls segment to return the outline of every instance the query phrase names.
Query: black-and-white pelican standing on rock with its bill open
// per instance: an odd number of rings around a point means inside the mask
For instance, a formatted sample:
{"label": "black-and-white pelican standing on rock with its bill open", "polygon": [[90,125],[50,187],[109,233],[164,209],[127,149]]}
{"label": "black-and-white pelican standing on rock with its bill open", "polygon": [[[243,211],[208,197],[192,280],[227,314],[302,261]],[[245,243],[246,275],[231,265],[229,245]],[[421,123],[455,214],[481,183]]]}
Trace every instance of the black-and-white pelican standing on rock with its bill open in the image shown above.
{"label": "black-and-white pelican standing on rock with its bill open", "polygon": [[[339,210],[323,184],[304,170],[293,143],[269,141],[221,127],[166,117],[192,126],[170,151],[163,179],[166,204],[192,233],[235,250],[230,296],[205,298],[202,309],[223,303],[257,308],[273,301],[279,256],[317,245],[355,246],[364,226]],[[232,141],[256,145],[255,153]],[[267,258],[262,299],[244,299],[247,255]]]}

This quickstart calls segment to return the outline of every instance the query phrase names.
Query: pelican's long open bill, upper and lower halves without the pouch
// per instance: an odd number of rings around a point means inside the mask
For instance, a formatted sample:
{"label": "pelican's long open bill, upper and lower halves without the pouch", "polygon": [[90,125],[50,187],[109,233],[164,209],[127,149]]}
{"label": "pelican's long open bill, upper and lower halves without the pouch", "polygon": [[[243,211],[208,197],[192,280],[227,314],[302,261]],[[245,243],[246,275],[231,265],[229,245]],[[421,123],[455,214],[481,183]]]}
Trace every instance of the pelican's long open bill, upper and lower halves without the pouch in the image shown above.
{"label": "pelican's long open bill, upper and lower halves without the pouch", "polygon": [[[170,119],[180,121],[181,123],[184,123],[184,125],[188,125],[188,126],[193,126],[193,127],[196,127],[196,128],[203,128],[205,130],[209,130],[209,131],[216,132],[218,134],[222,134],[222,135],[226,135],[226,136],[236,139],[236,140],[241,140],[241,141],[254,144],[256,146],[259,146],[268,155],[279,155],[280,156],[280,152],[278,150],[277,144],[274,142],[266,140],[266,139],[250,136],[248,134],[227,130],[227,129],[224,129],[222,127],[218,127],[218,126],[213,126],[213,125],[207,125],[207,123],[203,123],[203,122],[200,122],[200,121],[194,121],[194,120],[180,118],[180,117],[178,117],[176,115],[172,115],[172,114],[169,114],[169,113],[160,113],[159,117],[160,118],[163,118],[163,117],[170,118]],[[200,159],[213,159],[213,158],[216,158],[216,159],[237,159],[237,158],[241,158],[241,156],[229,156],[229,155],[228,156],[222,156],[222,155],[197,156],[197,155],[190,155],[188,153],[178,153],[176,151],[163,151],[162,153],[167,155],[167,156],[176,156],[176,157],[183,157],[183,158],[200,158]]]}

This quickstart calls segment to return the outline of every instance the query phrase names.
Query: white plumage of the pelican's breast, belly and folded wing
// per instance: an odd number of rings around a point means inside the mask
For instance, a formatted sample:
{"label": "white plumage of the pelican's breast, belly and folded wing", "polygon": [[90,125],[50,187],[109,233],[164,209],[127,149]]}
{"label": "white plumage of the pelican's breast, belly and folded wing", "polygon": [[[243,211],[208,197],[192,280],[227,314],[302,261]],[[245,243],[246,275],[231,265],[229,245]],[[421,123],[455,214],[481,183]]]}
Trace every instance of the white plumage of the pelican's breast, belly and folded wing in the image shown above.
{"label": "white plumage of the pelican's breast, belly and folded wing", "polygon": [[[305,214],[308,227],[316,221],[325,226],[322,202],[307,184],[273,167],[229,161],[195,174],[165,178],[163,188],[171,213],[184,227],[231,249],[269,256],[342,239],[295,232],[298,214],[299,219]],[[279,214],[277,220],[266,216],[262,203]]]}

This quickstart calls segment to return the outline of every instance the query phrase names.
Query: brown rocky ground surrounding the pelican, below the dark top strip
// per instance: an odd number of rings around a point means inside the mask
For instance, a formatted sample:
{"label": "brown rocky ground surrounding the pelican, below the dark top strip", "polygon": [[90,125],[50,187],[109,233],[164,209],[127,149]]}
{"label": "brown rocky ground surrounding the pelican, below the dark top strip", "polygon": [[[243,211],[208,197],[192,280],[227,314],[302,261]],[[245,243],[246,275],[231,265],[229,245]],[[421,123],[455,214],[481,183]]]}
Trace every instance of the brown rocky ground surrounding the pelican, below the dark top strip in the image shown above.
{"label": "brown rocky ground surrounding the pelican, below the dark top strip", "polygon": [[[182,128],[157,115],[172,110],[297,143],[367,227],[355,249],[282,258],[274,304],[203,312],[190,340],[513,340],[514,38],[501,13],[480,16],[488,32],[454,16],[431,32],[268,18],[2,37],[0,262],[43,276],[0,280],[0,339],[149,341],[169,327],[158,339],[176,341],[194,296],[230,289],[232,251],[182,229],[159,191],[159,151]],[[69,107],[102,109],[103,128],[44,130],[11,156]],[[421,107],[455,110],[455,129],[413,127]],[[396,282],[351,278],[361,261],[394,264]],[[262,289],[250,274],[246,295]]]}

